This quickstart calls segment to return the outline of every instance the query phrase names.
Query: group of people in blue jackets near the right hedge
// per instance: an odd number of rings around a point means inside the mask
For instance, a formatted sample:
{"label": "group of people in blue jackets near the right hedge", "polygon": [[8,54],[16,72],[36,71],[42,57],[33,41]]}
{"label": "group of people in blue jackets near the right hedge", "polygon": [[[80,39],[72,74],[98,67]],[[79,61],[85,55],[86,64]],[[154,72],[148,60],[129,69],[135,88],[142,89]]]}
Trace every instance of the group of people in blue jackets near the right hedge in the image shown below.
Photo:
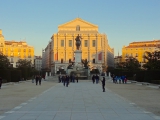
{"label": "group of people in blue jackets near the right hedge", "polygon": [[123,83],[123,84],[126,84],[127,83],[127,76],[126,75],[112,75],[112,80],[113,80],[113,83]]}

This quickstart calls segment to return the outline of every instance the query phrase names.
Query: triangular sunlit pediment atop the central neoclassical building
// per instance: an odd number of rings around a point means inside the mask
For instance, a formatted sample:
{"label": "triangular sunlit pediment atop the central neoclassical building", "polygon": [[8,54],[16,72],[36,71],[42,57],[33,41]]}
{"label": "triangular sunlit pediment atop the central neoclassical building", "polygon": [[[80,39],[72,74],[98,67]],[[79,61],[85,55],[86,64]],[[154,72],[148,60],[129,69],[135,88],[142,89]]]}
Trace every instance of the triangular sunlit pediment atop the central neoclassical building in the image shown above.
{"label": "triangular sunlit pediment atop the central neoclassical building", "polygon": [[85,29],[96,29],[98,30],[98,26],[94,25],[92,23],[89,23],[87,21],[82,20],[81,18],[76,18],[70,22],[67,22],[65,24],[59,25],[58,29],[59,30],[65,30],[66,28],[76,28],[76,26],[80,26],[81,28]]}

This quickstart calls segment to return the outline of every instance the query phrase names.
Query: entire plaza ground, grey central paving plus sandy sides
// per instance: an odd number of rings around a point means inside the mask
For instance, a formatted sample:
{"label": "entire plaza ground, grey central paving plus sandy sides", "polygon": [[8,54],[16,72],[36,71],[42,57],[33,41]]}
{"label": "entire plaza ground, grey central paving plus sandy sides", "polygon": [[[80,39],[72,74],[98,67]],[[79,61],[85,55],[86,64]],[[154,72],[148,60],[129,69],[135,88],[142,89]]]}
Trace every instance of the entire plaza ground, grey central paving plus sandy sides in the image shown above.
{"label": "entire plaza ground, grey central paving plus sandy sides", "polygon": [[139,83],[79,80],[64,87],[57,77],[0,89],[0,120],[160,120],[160,89]]}

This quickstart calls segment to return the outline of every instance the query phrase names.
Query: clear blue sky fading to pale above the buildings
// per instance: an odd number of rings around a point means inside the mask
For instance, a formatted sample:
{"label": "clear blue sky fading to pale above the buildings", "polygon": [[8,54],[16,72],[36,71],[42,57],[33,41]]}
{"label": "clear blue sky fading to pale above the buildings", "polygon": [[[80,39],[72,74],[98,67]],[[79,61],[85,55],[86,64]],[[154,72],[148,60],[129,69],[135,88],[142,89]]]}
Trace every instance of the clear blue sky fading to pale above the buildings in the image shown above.
{"label": "clear blue sky fading to pale above the buildings", "polygon": [[134,41],[160,39],[160,0],[1,0],[6,40],[26,40],[41,55],[58,25],[80,17],[99,26],[115,55]]}

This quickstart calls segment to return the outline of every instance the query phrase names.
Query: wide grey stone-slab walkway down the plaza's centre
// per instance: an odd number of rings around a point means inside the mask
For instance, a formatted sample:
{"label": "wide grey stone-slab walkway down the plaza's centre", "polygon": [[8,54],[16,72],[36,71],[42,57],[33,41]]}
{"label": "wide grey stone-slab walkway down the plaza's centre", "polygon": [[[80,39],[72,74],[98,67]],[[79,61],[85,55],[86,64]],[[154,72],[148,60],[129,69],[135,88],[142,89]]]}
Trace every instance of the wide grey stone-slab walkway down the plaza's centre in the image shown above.
{"label": "wide grey stone-slab walkway down the plaza's centre", "polygon": [[157,120],[133,103],[91,81],[62,83],[0,115],[0,120]]}

